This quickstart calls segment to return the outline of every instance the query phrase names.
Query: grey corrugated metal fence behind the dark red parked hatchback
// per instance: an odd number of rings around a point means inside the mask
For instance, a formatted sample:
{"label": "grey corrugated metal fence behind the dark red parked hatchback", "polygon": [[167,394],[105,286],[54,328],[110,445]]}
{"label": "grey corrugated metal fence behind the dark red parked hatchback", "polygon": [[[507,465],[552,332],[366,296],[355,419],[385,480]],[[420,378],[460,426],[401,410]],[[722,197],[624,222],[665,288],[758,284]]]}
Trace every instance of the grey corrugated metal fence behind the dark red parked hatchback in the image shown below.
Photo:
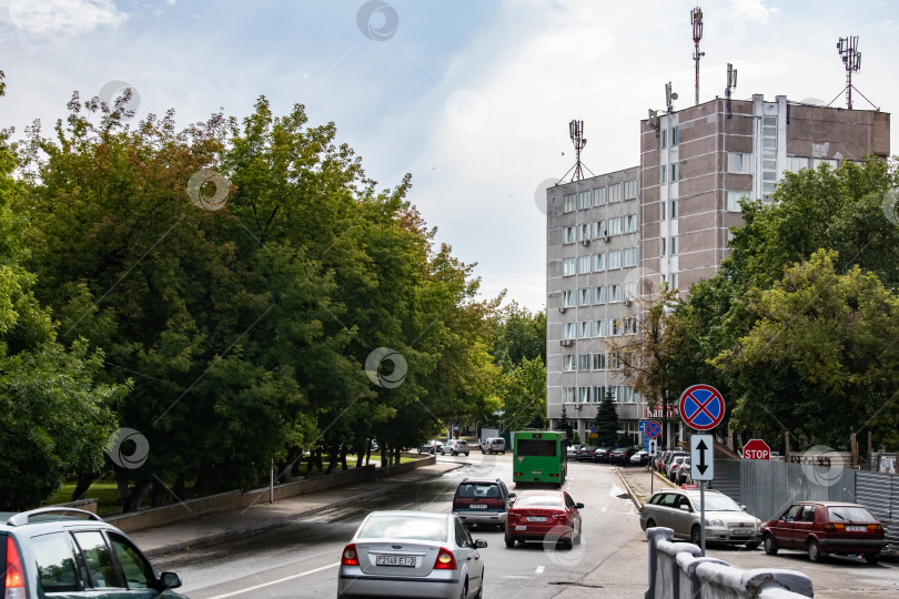
{"label": "grey corrugated metal fence behind the dark red parked hatchback", "polygon": [[861,504],[883,524],[887,550],[899,551],[899,475],[744,459],[740,498],[761,521],[778,517],[794,501]]}

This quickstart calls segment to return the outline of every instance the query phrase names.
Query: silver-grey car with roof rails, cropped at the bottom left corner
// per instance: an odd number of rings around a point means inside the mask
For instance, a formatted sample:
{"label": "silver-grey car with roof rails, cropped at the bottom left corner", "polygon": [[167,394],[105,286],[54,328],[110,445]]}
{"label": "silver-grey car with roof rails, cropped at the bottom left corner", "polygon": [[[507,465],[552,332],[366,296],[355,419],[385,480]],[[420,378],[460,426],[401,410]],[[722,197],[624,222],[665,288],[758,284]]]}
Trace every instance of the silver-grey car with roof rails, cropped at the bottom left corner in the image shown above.
{"label": "silver-grey car with roof rails, cropped at the bottom left corner", "polygon": [[186,599],[121,530],[95,514],[49,507],[0,516],[0,597]]}

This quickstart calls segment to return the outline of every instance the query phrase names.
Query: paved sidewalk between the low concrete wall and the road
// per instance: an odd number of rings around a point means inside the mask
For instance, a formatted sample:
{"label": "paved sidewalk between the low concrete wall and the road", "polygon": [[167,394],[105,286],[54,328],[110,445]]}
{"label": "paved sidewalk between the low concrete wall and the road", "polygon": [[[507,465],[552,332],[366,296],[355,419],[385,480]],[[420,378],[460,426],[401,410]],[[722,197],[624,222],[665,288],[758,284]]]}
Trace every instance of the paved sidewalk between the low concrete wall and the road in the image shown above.
{"label": "paved sidewalk between the low concrete wall and the road", "polygon": [[209,514],[172,525],[138,530],[129,534],[129,537],[150,557],[188,547],[211,545],[260,532],[320,511],[365,501],[406,485],[443,476],[462,466],[462,464],[432,464],[405,473],[282,499],[275,504],[260,502],[244,510]]}

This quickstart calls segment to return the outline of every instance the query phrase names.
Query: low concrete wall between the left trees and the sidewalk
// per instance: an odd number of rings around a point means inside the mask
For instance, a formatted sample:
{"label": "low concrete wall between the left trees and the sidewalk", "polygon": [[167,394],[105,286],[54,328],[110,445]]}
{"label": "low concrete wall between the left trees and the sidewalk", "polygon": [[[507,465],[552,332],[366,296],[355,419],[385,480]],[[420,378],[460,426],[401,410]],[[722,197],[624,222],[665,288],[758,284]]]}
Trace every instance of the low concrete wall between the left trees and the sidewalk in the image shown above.
{"label": "low concrete wall between the left trees and the sidewalk", "polygon": [[[286,499],[287,497],[319,493],[333,487],[340,487],[342,485],[351,485],[391,474],[400,474],[420,468],[422,466],[435,464],[437,460],[436,456],[420,457],[414,455],[414,457],[418,459],[415,461],[401,464],[400,466],[392,466],[390,468],[363,466],[362,468],[340,470],[310,480],[296,480],[285,485],[276,485],[274,488],[274,500],[279,501],[281,499]],[[122,514],[121,516],[108,516],[103,519],[111,525],[119,527],[124,532],[133,532],[135,530],[143,530],[145,528],[153,528],[155,526],[189,520],[204,514],[245,509],[252,505],[265,504],[267,501],[267,487],[249,490],[246,493],[232,490],[209,497],[201,497],[199,499],[190,499],[188,501],[182,501],[171,506],[150,508],[141,511]]]}

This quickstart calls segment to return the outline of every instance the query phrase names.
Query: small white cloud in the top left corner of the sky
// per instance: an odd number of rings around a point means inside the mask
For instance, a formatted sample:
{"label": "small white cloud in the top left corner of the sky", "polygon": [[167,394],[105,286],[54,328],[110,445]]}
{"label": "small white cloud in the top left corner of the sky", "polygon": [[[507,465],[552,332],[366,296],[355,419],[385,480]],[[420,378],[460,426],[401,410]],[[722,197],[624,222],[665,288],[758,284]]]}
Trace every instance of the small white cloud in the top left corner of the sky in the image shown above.
{"label": "small white cloud in the top left corner of the sky", "polygon": [[114,27],[128,16],[111,0],[11,0],[9,18],[22,31],[58,38]]}

